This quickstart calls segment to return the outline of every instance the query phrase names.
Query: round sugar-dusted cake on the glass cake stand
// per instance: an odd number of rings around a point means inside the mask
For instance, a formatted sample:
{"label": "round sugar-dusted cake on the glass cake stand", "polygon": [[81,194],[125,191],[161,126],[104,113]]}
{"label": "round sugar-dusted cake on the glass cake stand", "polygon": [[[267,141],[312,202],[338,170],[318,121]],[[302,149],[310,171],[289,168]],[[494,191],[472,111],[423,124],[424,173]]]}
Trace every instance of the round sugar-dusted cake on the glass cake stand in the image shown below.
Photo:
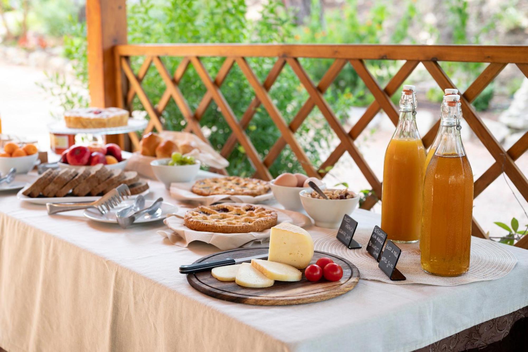
{"label": "round sugar-dusted cake on the glass cake stand", "polygon": [[83,107],[64,113],[64,121],[70,129],[101,129],[128,124],[128,111],[119,107]]}

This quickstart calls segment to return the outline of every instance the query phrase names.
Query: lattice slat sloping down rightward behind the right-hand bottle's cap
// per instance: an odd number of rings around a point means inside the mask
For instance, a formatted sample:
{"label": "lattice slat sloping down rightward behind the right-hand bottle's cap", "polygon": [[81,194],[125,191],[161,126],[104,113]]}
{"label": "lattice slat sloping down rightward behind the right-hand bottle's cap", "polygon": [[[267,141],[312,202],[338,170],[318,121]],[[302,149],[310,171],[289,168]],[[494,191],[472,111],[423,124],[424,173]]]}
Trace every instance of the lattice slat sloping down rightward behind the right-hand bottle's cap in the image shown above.
{"label": "lattice slat sloping down rightward behind the right-hand bottle's cap", "polygon": [[[426,66],[427,71],[429,71],[433,79],[435,79],[441,87],[455,86],[437,62],[425,61],[423,62],[423,65]],[[504,163],[504,172],[506,172],[510,180],[515,184],[517,190],[521,192],[524,199],[528,200],[528,180],[526,180],[524,174],[519,170],[510,155],[506,153],[504,148],[502,148],[501,144],[497,142],[493,134],[489,132],[486,125],[480,120],[473,109],[473,106],[467,101],[464,95],[460,97],[460,102],[462,104],[464,118],[470,128],[475,132],[478,139],[484,144],[488,152],[492,154],[495,161],[498,163]]]}

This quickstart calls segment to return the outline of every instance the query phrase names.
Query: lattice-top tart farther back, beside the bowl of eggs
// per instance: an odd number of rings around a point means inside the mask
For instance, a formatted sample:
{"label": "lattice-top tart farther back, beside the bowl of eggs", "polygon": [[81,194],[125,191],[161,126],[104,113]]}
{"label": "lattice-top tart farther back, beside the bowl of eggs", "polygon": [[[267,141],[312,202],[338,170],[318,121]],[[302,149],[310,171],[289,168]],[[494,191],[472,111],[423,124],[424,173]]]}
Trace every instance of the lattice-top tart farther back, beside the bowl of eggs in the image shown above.
{"label": "lattice-top tart farther back, beside the bowl of eggs", "polygon": [[230,194],[256,197],[267,193],[269,184],[266,181],[238,176],[216,177],[196,181],[191,191],[200,195]]}

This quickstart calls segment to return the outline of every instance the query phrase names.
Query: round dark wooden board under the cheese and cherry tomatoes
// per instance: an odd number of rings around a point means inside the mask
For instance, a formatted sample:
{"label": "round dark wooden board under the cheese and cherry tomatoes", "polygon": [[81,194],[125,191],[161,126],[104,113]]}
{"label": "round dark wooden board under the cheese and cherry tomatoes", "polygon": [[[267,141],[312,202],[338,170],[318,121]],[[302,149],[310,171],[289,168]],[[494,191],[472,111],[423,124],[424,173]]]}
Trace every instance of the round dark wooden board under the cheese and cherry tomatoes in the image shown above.
{"label": "round dark wooden board under the cheese and cherry tomatoes", "polygon": [[[266,253],[268,253],[268,247],[233,249],[200,258],[195,263],[225,258],[244,258]],[[360,272],[350,261],[331,253],[315,251],[310,264],[314,264],[317,259],[322,257],[331,258],[335,263],[341,265],[343,268],[341,280],[331,282],[322,278],[319,281],[310,282],[303,275],[303,278],[296,282],[275,281],[271,287],[248,288],[239,286],[234,281],[217,280],[208,270],[187,274],[187,281],[205,295],[258,306],[298,305],[324,301],[343,295],[356,286],[360,279]]]}

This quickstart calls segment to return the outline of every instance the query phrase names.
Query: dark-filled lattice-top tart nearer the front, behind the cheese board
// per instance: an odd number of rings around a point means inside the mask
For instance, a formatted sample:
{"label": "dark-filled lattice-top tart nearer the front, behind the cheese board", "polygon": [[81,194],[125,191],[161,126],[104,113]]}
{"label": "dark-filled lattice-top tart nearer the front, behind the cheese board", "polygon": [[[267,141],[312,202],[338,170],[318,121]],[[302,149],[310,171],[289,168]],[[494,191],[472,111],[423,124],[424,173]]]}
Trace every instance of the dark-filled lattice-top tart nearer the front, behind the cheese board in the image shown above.
{"label": "dark-filled lattice-top tart nearer the front, behind the cheese board", "polygon": [[185,213],[185,226],[191,230],[220,233],[258,232],[277,224],[277,213],[251,204],[200,206]]}

